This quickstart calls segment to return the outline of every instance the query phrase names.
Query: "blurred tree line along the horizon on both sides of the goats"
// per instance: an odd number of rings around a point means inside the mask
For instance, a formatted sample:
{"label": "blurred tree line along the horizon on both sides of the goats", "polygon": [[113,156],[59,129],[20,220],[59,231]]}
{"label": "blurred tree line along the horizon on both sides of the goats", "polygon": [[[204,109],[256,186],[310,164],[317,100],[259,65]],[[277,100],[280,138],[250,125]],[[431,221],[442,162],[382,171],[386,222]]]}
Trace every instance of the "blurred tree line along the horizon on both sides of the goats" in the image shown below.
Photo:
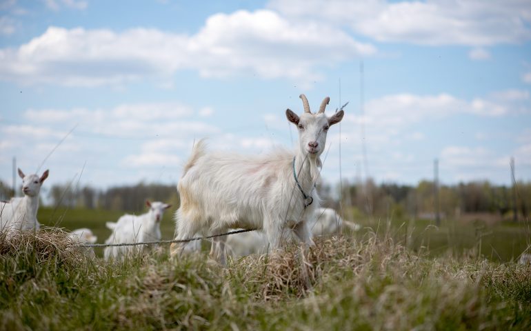
{"label": "blurred tree line along the horizon on both sides of the goats", "polygon": [[[437,189],[437,190],[436,190]],[[434,185],[420,181],[417,185],[377,184],[372,179],[341,185],[319,185],[324,205],[332,208],[353,207],[372,216],[431,218],[439,210],[443,217],[459,217],[461,213],[489,212],[501,217],[527,218],[531,207],[531,182],[516,185],[494,185],[488,181],[472,181],[457,185]],[[74,187],[68,183],[52,185],[42,192],[48,204],[68,208],[103,208],[141,212],[146,199],[179,205],[175,185],[121,185],[101,190],[90,185]],[[42,194],[41,193],[41,194]],[[0,182],[0,199],[12,197],[12,189]]]}

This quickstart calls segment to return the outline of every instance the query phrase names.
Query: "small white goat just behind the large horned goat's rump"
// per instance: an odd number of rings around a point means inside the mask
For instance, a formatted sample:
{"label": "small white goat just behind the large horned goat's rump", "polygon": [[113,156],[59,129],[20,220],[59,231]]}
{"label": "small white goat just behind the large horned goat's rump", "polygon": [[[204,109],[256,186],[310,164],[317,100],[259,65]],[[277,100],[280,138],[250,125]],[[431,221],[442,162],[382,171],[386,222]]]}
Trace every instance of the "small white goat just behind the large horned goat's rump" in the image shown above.
{"label": "small white goat just behind the large horned goat's rump", "polygon": [[[164,210],[171,207],[162,202],[146,201],[150,210],[139,216],[125,214],[116,223],[107,222],[107,228],[112,234],[105,243],[140,243],[143,241],[157,241],[161,239],[161,220]],[[103,257],[117,259],[131,252],[141,252],[142,245],[106,247]]]}

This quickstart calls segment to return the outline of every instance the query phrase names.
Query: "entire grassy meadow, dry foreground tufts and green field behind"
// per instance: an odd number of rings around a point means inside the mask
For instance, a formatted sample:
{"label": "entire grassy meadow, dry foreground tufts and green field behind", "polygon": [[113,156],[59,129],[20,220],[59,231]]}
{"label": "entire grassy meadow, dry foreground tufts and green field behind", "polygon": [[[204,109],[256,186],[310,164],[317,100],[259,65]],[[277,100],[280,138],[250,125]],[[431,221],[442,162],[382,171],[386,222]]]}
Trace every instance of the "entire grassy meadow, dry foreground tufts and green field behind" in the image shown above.
{"label": "entire grassy meadow, dry foreground tufts and green field behind", "polygon": [[[122,212],[39,210],[103,242]],[[0,238],[1,330],[493,330],[531,328],[528,223],[357,220],[304,252],[230,261],[86,259],[59,230]],[[171,238],[171,212],[161,230]],[[101,254],[101,252],[99,252]]]}

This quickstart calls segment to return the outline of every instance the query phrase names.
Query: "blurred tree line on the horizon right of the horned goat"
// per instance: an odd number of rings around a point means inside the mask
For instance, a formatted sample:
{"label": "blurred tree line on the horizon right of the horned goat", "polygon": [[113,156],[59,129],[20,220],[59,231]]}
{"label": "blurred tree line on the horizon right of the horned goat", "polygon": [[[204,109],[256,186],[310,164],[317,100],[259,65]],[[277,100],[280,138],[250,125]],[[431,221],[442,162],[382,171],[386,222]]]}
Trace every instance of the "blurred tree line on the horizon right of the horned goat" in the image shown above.
{"label": "blurred tree line on the horizon right of the horned goat", "polygon": [[[420,181],[414,185],[381,183],[368,179],[335,188],[341,192],[335,197],[334,188],[321,185],[320,196],[333,208],[352,206],[364,215],[379,217],[416,217],[434,219],[460,217],[465,213],[498,214],[506,219],[527,219],[531,207],[531,182],[522,181],[514,186],[494,185],[489,181],[472,181],[456,185],[434,185]],[[514,212],[516,211],[516,214]]]}

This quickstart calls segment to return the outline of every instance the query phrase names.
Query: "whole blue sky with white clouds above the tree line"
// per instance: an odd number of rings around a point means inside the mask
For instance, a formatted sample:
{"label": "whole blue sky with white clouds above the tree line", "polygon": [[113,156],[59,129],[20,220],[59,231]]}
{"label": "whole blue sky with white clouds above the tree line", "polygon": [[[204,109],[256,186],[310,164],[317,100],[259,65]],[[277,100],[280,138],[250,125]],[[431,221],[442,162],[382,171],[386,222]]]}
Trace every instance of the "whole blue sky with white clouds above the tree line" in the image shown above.
{"label": "whole blue sky with white clouds above the tree line", "polygon": [[530,0],[198,3],[0,0],[0,181],[176,184],[203,137],[296,146],[301,93],[348,101],[328,183],[531,181]]}

